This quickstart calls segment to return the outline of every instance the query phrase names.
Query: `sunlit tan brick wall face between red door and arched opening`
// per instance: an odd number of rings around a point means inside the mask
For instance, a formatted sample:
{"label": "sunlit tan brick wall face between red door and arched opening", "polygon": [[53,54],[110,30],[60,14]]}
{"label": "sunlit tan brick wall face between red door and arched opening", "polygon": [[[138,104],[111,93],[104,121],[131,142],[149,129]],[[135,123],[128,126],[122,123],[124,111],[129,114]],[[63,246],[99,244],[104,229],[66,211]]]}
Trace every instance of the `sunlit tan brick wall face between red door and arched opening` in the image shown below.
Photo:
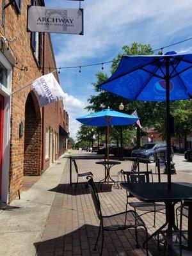
{"label": "sunlit tan brick wall face between red door and arched opening", "polygon": [[[2,1],[0,1],[0,8]],[[8,1],[6,1],[8,3]],[[12,92],[26,86],[41,76],[39,68],[28,68],[28,71],[22,71],[22,65],[37,67],[33,51],[31,50],[30,37],[31,33],[26,31],[27,6],[31,0],[22,0],[22,10],[19,15],[11,4],[5,10],[5,26],[0,26],[1,35],[12,39],[17,36],[17,42],[10,43],[9,51],[16,60],[17,67],[12,72]],[[1,11],[0,11],[1,12]],[[1,15],[0,15],[1,23]],[[5,48],[8,45],[5,45]],[[25,123],[25,104],[31,86],[26,87],[20,92],[12,95],[12,113],[11,113],[11,138],[10,138],[10,200],[13,200],[18,193],[17,190],[22,188],[24,175],[24,136],[19,138],[19,124]],[[24,127],[25,129],[25,127]]]}

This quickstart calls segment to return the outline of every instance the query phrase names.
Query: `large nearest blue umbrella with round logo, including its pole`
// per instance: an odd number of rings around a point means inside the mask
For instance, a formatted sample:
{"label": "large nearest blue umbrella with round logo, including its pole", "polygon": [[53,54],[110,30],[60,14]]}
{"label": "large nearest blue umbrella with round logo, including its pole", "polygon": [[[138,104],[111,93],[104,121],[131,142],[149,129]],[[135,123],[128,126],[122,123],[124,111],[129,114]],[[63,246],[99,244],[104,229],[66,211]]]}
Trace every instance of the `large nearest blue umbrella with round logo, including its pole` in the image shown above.
{"label": "large nearest blue umbrella with round logo, including its pole", "polygon": [[170,100],[191,99],[192,54],[167,52],[154,56],[124,56],[100,88],[130,100],[166,101],[168,189],[171,182]]}

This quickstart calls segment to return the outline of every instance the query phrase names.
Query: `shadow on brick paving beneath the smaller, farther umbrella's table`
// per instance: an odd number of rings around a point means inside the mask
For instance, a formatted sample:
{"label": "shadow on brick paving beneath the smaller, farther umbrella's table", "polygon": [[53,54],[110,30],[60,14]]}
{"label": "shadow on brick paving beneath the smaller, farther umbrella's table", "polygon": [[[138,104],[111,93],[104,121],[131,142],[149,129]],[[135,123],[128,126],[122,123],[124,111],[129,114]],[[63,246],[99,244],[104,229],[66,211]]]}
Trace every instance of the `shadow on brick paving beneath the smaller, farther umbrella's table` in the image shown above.
{"label": "shadow on brick paving beneath the smaller, farther umbrella's table", "polygon": [[[100,189],[99,182],[95,182],[97,186],[98,193],[111,192],[112,185],[111,184],[102,184],[102,189]],[[77,196],[77,195],[85,195],[90,194],[90,190],[86,189],[84,182],[79,182],[77,184],[77,188],[75,188],[76,183],[72,184],[72,187],[69,184],[59,184],[55,188],[49,189],[49,191]]]}

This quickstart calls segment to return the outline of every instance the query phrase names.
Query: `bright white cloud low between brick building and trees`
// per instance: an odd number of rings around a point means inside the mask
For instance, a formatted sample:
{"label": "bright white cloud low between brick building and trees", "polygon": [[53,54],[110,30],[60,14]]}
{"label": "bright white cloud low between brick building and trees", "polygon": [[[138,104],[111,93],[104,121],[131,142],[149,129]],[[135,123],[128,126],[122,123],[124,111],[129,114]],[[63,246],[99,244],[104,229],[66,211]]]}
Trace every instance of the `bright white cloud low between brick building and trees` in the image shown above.
{"label": "bright white cloud low between brick building and trees", "polygon": [[72,95],[68,95],[68,93],[64,94],[65,99],[63,100],[63,104],[64,109],[68,112],[70,137],[76,140],[76,133],[81,125],[76,118],[88,113],[86,109],[84,109],[86,107],[86,103]]}

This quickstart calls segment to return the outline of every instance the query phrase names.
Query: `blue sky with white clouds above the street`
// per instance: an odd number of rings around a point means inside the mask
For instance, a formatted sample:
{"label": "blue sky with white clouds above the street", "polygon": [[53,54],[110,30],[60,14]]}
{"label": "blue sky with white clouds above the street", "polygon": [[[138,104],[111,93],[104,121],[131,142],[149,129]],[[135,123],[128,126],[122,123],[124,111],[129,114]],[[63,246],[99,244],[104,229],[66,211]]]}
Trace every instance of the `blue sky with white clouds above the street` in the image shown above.
{"label": "blue sky with white clouds above the street", "polygon": [[[79,1],[45,0],[45,6],[79,8]],[[82,66],[113,60],[123,45],[132,42],[164,47],[192,35],[192,1],[185,0],[84,0],[84,35],[51,34],[57,67]],[[164,49],[192,52],[192,40]],[[104,72],[110,75],[110,64]],[[86,115],[87,99],[95,95],[92,83],[101,66],[60,70],[65,92],[64,108],[69,114],[70,136],[76,140],[79,122]],[[118,109],[118,106],[117,106]],[[116,110],[117,110],[116,109]]]}

